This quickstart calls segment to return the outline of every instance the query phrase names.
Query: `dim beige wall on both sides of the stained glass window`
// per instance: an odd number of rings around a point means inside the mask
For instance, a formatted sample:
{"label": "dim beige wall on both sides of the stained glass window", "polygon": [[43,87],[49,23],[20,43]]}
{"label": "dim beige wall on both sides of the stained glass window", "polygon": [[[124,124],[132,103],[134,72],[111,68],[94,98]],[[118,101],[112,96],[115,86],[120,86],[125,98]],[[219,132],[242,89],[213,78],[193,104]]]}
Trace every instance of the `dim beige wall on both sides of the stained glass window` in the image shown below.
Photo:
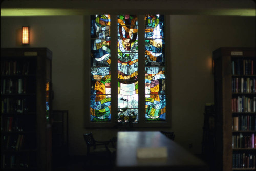
{"label": "dim beige wall on both sides of the stained glass window", "polygon": [[[191,152],[201,153],[204,104],[214,101],[212,51],[219,47],[255,46],[255,17],[172,15],[171,75],[172,128],[175,141]],[[89,73],[83,16],[1,17],[1,47],[22,47],[20,28],[31,27],[29,47],[47,47],[53,52],[55,98],[53,109],[69,110],[70,155],[86,152],[82,134],[93,131],[98,139],[110,138],[116,130],[84,129],[84,97]]]}

